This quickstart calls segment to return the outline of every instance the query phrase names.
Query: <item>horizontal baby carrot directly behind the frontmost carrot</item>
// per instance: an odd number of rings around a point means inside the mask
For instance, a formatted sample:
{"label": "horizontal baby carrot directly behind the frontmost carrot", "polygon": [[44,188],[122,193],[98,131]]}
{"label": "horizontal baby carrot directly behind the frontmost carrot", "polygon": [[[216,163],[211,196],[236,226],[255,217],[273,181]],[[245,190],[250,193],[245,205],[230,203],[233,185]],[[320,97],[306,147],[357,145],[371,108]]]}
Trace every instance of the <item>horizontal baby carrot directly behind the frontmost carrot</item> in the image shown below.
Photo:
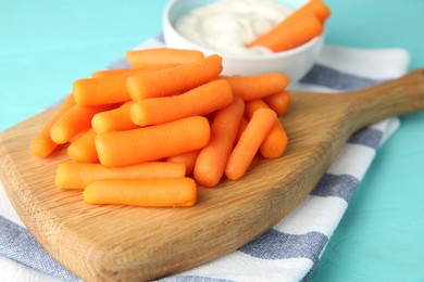
{"label": "horizontal baby carrot directly behind the frontmost carrot", "polygon": [[89,183],[104,179],[159,179],[184,177],[183,164],[148,162],[133,166],[105,167],[100,164],[61,163],[54,183],[61,189],[85,189]]}

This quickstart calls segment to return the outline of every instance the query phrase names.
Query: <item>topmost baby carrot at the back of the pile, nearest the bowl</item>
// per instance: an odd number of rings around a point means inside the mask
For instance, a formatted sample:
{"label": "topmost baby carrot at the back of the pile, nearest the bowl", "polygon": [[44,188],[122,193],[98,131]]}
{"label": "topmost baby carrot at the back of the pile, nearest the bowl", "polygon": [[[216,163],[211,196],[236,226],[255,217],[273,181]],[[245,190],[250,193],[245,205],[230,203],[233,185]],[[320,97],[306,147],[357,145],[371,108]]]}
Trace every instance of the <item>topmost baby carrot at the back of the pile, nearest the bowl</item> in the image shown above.
{"label": "topmost baby carrot at the back of the pile, nearest the bowl", "polygon": [[132,50],[126,52],[126,60],[133,68],[163,64],[187,64],[204,57],[203,53],[196,50],[183,50],[173,48],[154,48]]}

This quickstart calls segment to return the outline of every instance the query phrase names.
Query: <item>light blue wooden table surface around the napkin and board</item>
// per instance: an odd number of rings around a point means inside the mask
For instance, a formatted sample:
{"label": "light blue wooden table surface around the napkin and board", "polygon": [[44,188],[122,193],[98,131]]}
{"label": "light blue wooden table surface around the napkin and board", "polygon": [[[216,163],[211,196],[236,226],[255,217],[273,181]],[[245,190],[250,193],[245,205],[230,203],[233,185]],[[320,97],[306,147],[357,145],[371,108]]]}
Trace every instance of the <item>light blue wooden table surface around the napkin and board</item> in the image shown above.
{"label": "light blue wooden table surface around the napkin and board", "polygon": [[[0,131],[161,30],[167,1],[0,0]],[[424,67],[424,1],[327,0],[327,42],[406,48]],[[424,281],[424,113],[377,152],[314,281]]]}

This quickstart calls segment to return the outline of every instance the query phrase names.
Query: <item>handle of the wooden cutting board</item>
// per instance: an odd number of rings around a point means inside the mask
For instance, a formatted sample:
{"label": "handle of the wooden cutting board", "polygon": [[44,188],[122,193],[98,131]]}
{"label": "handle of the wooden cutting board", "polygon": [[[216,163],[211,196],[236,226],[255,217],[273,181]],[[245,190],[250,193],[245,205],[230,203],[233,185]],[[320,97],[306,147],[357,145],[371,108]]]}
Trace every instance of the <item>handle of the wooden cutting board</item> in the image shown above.
{"label": "handle of the wooden cutting board", "polygon": [[423,111],[424,68],[340,97],[351,100],[350,117],[357,119],[358,129],[390,116]]}

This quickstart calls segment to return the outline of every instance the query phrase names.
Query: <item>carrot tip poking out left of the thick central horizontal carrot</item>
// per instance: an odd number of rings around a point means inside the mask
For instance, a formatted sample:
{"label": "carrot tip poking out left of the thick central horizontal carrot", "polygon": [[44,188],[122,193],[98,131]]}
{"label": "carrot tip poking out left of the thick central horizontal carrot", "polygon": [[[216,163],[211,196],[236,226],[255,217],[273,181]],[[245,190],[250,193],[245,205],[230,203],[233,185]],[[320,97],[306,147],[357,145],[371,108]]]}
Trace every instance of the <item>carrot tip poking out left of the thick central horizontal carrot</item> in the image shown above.
{"label": "carrot tip poking out left of the thick central horizontal carrot", "polygon": [[97,163],[99,157],[96,151],[96,131],[90,128],[67,148],[67,155],[71,159],[79,163]]}

